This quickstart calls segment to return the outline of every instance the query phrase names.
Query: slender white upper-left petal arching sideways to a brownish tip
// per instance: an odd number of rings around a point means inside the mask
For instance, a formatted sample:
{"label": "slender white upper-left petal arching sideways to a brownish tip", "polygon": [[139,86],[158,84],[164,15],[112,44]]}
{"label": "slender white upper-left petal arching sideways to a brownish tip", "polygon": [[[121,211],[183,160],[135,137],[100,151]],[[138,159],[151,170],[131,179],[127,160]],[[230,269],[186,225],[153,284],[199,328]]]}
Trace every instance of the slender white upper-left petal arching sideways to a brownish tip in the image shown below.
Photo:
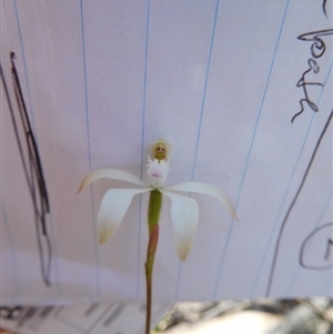
{"label": "slender white upper-left petal arching sideways to a brownish tip", "polygon": [[134,184],[139,184],[142,186],[145,186],[145,184],[134,174],[128,173],[125,171],[121,170],[113,170],[113,169],[103,169],[103,170],[95,170],[91,172],[90,174],[85,175],[85,178],[82,180],[80,188],[78,190],[78,193],[82,191],[87,185],[90,183],[102,179],[114,179],[114,180],[120,180],[120,181],[128,181]]}

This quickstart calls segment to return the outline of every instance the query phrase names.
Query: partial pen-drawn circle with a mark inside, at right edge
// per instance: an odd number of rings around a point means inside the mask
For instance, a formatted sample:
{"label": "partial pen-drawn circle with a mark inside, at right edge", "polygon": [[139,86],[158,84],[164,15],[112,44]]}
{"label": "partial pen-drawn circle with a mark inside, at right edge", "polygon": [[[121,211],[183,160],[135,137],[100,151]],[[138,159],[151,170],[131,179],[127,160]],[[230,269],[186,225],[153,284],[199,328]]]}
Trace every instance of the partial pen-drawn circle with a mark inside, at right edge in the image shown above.
{"label": "partial pen-drawn circle with a mark inside, at right edge", "polygon": [[[325,236],[324,233],[330,233],[330,235],[331,235],[332,226],[333,226],[333,223],[327,223],[327,224],[324,224],[322,226],[314,229],[302,242],[302,246],[300,250],[300,260],[299,260],[300,265],[302,267],[307,269],[307,270],[313,270],[313,271],[325,271],[325,270],[331,270],[333,267],[333,263],[331,263],[331,264],[324,263],[324,262],[329,261],[331,252],[332,252],[332,247],[333,247],[332,239],[327,239],[327,236]],[[325,231],[325,230],[329,230],[329,231]],[[321,259],[317,259],[315,262],[313,260],[310,261],[310,259],[306,259],[306,256],[305,256],[305,249],[313,239],[317,239],[319,241],[321,241],[320,237],[321,239],[324,237],[324,240],[325,240],[324,242],[326,244],[326,250],[325,250],[325,254],[323,257],[324,261],[322,261]],[[322,263],[320,263],[320,262],[322,262]]]}

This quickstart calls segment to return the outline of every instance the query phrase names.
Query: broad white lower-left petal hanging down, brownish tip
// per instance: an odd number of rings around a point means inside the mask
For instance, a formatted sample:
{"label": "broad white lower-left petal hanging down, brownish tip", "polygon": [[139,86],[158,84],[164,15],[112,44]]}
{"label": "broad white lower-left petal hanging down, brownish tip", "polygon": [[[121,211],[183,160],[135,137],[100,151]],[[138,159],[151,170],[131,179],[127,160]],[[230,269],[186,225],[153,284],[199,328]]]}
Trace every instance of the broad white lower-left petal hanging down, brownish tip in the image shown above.
{"label": "broad white lower-left petal hanging down, brownish tip", "polygon": [[98,214],[99,242],[103,244],[112,236],[123,220],[135,194],[149,189],[110,189],[104,194]]}

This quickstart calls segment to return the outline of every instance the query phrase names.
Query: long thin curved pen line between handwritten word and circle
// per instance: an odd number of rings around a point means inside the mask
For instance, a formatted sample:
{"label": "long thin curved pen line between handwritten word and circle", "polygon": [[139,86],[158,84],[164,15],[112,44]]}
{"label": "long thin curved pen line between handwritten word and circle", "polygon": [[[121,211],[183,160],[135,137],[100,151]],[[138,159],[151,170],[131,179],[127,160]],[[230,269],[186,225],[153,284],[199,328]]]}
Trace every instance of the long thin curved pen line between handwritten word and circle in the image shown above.
{"label": "long thin curved pen line between handwritten word and circle", "polygon": [[304,183],[305,183],[305,181],[306,181],[307,174],[309,174],[309,172],[310,172],[310,169],[311,169],[311,166],[312,166],[312,163],[313,163],[313,161],[314,161],[314,158],[315,158],[315,155],[316,155],[316,152],[317,152],[317,150],[319,150],[319,148],[320,148],[320,144],[321,144],[321,142],[322,142],[322,139],[323,139],[325,132],[326,132],[327,129],[329,129],[329,125],[330,125],[330,122],[331,122],[331,120],[332,120],[332,117],[333,117],[333,110],[331,111],[330,117],[329,117],[329,119],[327,119],[327,121],[326,121],[326,123],[325,123],[325,126],[324,126],[324,129],[323,129],[323,131],[322,131],[322,133],[321,133],[321,135],[320,135],[320,138],[319,138],[319,140],[317,140],[317,142],[316,142],[316,144],[315,144],[314,151],[313,151],[313,153],[312,153],[312,156],[311,156],[311,159],[310,159],[310,162],[309,162],[309,164],[307,164],[307,166],[306,166],[306,170],[305,170],[305,172],[304,172],[304,175],[303,175],[303,178],[302,178],[302,182],[301,182],[301,184],[300,184],[300,186],[299,186],[299,189],[297,189],[297,191],[296,191],[296,194],[295,194],[294,198],[293,198],[293,201],[291,202],[291,204],[290,204],[290,206],[289,206],[289,209],[287,209],[287,211],[286,211],[286,214],[285,214],[285,216],[284,216],[284,219],[283,219],[283,222],[282,222],[282,225],[281,225],[281,227],[280,227],[279,236],[278,236],[276,244],[275,244],[273,261],[272,261],[272,265],[271,265],[271,270],[270,270],[270,275],[269,275],[269,282],[268,282],[268,287],[266,287],[266,293],[265,293],[265,296],[266,296],[266,297],[269,297],[270,294],[271,294],[271,289],[272,289],[272,284],[273,284],[274,272],[275,272],[275,266],[276,266],[276,261],[278,261],[278,254],[279,254],[279,251],[280,251],[280,244],[281,244],[281,240],[282,240],[282,235],[283,235],[283,230],[284,230],[284,227],[285,227],[285,225],[286,225],[286,222],[287,222],[287,220],[289,220],[289,216],[290,216],[290,214],[291,214],[291,212],[292,212],[292,210],[293,210],[293,208],[294,208],[294,205],[295,205],[295,203],[296,203],[296,201],[297,201],[297,199],[299,199],[299,195],[300,195],[300,193],[301,193],[301,191],[302,191],[302,189],[303,189],[303,185],[304,185]]}

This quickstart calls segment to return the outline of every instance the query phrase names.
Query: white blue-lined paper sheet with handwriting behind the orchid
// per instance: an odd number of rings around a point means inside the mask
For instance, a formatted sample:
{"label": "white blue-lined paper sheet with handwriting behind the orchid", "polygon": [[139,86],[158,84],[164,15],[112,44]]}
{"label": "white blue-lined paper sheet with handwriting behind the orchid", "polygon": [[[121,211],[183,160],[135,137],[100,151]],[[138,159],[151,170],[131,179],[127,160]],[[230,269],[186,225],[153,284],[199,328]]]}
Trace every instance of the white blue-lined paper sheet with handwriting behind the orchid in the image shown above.
{"label": "white blue-lined paper sheet with handwriting behind the orchid", "polygon": [[331,295],[332,34],[332,1],[2,0],[3,304],[144,301],[148,195],[99,246],[104,192],[131,185],[75,192],[99,168],[147,180],[160,138],[173,144],[168,184],[214,184],[240,222],[192,194],[199,229],[181,263],[165,199],[155,302]]}

